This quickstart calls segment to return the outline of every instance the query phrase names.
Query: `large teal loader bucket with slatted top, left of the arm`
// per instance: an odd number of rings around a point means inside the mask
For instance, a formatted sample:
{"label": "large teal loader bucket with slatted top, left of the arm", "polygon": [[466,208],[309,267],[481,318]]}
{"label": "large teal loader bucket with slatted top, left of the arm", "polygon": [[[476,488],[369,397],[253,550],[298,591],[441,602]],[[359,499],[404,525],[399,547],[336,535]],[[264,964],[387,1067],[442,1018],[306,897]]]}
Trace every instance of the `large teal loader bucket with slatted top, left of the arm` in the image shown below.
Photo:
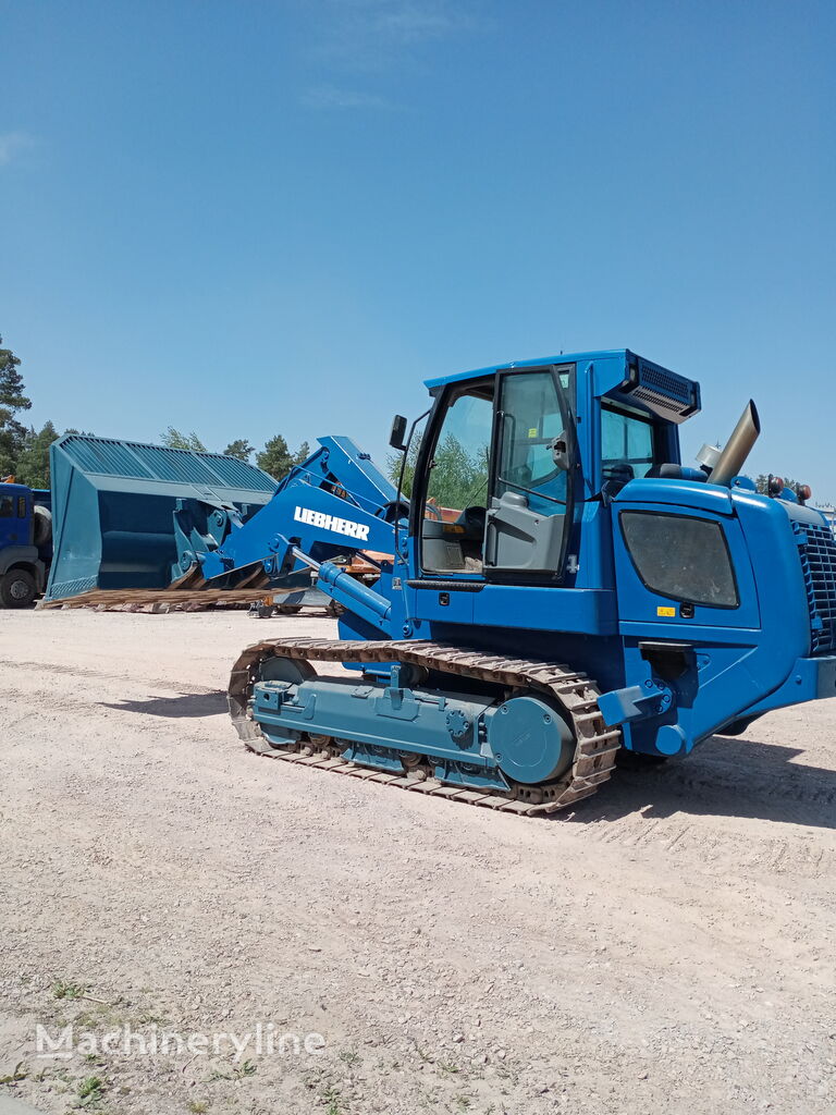
{"label": "large teal loader bucket with slatted top, left of the arm", "polygon": [[220,453],[67,434],[50,447],[52,566],[47,600],[91,589],[166,589],[177,500],[234,504],[249,517],[278,487]]}

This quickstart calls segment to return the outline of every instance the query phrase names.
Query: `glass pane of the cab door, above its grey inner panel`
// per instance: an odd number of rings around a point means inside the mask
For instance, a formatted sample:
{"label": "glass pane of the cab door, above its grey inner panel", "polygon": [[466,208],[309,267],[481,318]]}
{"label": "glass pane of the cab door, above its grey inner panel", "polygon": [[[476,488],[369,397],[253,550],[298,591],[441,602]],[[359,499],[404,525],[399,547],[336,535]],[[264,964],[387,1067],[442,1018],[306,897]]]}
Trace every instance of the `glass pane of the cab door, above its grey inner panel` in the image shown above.
{"label": "glass pane of the cab door, above its grey inner panel", "polygon": [[566,507],[567,446],[551,371],[503,377],[499,396],[499,467],[496,496],[525,495],[542,515]]}

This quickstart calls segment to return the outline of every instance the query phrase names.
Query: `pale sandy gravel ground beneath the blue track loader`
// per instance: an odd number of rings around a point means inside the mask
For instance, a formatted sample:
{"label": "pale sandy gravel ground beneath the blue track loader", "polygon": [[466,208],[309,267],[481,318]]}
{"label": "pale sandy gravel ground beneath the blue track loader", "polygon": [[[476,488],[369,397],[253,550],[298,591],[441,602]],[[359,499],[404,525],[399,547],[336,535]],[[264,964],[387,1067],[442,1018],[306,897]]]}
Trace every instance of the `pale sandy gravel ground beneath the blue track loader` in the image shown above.
{"label": "pale sandy gravel ground beneath the blue track loader", "polygon": [[221,690],[280,628],[332,624],[0,612],[0,1097],[834,1111],[836,701],[523,820],[245,752]]}

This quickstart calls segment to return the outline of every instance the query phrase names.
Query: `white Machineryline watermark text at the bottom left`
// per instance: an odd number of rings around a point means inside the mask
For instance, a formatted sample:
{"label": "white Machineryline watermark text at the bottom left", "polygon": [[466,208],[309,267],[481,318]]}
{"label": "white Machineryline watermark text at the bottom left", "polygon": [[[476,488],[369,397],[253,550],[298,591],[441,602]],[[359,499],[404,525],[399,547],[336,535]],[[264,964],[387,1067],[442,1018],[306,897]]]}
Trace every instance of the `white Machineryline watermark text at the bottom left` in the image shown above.
{"label": "white Machineryline watermark text at the bottom left", "polygon": [[233,1061],[249,1057],[317,1057],[324,1053],[321,1034],[283,1031],[274,1022],[257,1022],[253,1029],[235,1032],[171,1030],[156,1022],[143,1029],[130,1024],[95,1034],[77,1029],[71,1022],[64,1029],[35,1028],[36,1056],[50,1060],[69,1060],[75,1054],[95,1057],[221,1057],[233,1053]]}

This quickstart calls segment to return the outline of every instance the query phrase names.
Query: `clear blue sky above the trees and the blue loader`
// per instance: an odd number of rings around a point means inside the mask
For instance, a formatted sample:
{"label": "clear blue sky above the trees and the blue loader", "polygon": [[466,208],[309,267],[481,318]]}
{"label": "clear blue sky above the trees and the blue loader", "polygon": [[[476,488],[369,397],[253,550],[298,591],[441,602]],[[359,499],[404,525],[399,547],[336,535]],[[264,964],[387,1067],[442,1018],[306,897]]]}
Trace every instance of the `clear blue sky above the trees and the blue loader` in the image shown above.
{"label": "clear blue sky above the trees and the blue loader", "polygon": [[836,500],[827,2],[0,0],[0,332],[51,417],[213,448],[630,347],[686,455]]}

